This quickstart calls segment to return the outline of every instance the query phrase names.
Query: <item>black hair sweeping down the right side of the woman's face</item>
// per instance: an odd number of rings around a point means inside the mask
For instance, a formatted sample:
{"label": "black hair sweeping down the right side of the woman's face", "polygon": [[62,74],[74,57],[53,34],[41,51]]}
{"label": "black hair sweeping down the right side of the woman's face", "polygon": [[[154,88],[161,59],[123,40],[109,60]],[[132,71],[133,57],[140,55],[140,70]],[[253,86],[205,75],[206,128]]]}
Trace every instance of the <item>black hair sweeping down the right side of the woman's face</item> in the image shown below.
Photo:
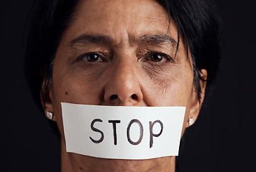
{"label": "black hair sweeping down the right side of the woman's face", "polygon": [[[179,35],[183,36],[193,62],[193,84],[201,100],[201,70],[207,70],[206,92],[210,90],[219,68],[220,17],[213,1],[157,0],[173,17]],[[181,33],[180,33],[181,32]],[[188,54],[188,52],[187,52]]]}

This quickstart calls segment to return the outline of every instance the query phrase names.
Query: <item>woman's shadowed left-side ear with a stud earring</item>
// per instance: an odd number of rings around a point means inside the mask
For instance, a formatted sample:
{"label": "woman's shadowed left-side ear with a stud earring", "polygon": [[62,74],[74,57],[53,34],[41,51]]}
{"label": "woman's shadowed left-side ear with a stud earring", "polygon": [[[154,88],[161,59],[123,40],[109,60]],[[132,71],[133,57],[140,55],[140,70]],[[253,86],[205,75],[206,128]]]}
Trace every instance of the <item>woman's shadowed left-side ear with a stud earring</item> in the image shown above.
{"label": "woman's shadowed left-side ear with a stud earring", "polygon": [[[44,81],[42,82],[40,98],[41,98],[42,108],[45,112],[45,116],[48,119],[55,121],[55,115],[52,108],[52,84],[49,80],[44,79]],[[52,114],[52,118],[48,116],[48,113]]]}

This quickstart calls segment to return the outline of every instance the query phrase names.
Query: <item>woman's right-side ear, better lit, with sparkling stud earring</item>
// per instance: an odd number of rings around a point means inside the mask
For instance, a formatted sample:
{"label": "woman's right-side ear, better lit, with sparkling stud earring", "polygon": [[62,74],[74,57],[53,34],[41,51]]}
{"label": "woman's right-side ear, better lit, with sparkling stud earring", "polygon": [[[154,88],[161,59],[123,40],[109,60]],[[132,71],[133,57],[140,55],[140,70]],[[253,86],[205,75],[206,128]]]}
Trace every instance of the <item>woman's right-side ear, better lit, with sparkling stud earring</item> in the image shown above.
{"label": "woman's right-side ear, better lit, with sparkling stud earring", "polygon": [[190,105],[190,111],[188,115],[188,123],[186,127],[188,128],[189,126],[193,125],[195,123],[196,119],[198,118],[198,114],[201,109],[201,105],[204,101],[204,95],[206,91],[206,80],[207,80],[207,71],[206,70],[201,70],[200,75],[202,80],[200,80],[200,85],[201,85],[201,100],[198,100],[198,95],[196,92],[196,88],[193,87],[192,95],[191,95],[191,105]]}

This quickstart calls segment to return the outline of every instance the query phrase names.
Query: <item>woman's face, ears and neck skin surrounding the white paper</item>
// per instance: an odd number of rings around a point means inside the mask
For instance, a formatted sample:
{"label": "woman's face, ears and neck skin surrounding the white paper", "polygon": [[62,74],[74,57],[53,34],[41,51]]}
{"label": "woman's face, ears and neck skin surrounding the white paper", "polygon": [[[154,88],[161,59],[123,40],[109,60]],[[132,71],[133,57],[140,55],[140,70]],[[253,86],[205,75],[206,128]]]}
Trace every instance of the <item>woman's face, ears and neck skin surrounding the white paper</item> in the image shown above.
{"label": "woman's face, ears and neck skin surrounding the white paper", "polygon": [[[168,16],[156,1],[80,1],[74,16],[55,54],[50,98],[42,97],[45,114],[53,113],[60,130],[62,171],[175,171],[175,157],[126,161],[66,153],[60,102],[186,106],[182,133],[201,108],[191,57],[182,41],[175,57],[175,22],[168,30]],[[201,86],[204,100],[206,82]]]}

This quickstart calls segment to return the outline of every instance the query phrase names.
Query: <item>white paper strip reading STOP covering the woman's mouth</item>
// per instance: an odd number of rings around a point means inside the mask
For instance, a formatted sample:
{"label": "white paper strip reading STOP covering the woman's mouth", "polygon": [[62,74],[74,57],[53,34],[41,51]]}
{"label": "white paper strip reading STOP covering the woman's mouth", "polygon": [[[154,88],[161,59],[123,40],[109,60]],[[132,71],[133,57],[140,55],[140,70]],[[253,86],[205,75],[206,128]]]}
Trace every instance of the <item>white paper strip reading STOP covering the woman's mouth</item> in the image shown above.
{"label": "white paper strip reading STOP covering the woman's mouth", "polygon": [[185,107],[61,105],[67,152],[137,160],[178,156]]}

